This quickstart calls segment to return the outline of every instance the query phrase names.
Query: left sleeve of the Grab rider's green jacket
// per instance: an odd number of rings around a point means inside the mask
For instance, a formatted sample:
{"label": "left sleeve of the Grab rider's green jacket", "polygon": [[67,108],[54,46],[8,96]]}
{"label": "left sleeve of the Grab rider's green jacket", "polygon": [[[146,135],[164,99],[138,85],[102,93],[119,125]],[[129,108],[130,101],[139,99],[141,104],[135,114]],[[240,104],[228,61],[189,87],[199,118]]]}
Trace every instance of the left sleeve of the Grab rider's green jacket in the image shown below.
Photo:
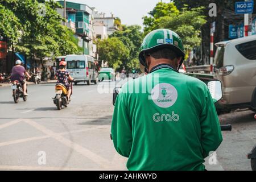
{"label": "left sleeve of the Grab rider's green jacket", "polygon": [[129,113],[122,99],[122,94],[118,94],[117,100],[115,101],[111,133],[115,150],[117,150],[120,155],[128,158],[131,151],[131,144],[133,143],[133,137]]}

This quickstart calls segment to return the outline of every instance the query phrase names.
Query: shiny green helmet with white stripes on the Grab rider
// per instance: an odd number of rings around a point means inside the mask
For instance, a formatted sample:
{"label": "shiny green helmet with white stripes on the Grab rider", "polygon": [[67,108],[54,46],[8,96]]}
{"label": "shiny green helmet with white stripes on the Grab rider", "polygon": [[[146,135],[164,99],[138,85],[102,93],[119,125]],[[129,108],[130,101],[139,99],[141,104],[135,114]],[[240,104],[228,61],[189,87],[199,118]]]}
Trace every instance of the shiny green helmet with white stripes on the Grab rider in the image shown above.
{"label": "shiny green helmet with white stripes on the Grab rider", "polygon": [[152,51],[159,48],[172,49],[177,56],[182,56],[180,65],[183,63],[185,52],[179,35],[177,35],[174,31],[162,28],[151,31],[144,38],[139,52],[139,63],[142,64],[141,67],[146,66],[144,53],[146,51]]}

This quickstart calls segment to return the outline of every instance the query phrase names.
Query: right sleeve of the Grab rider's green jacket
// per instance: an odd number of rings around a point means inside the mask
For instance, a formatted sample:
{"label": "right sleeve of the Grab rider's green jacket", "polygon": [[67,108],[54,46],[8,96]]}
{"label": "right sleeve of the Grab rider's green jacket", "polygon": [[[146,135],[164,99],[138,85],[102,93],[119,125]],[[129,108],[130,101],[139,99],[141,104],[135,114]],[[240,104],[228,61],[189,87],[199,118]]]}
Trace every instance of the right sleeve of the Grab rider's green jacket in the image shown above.
{"label": "right sleeve of the Grab rider's green jacket", "polygon": [[203,157],[206,158],[209,152],[216,151],[222,142],[220,122],[208,88],[205,88],[205,100],[203,101],[200,122],[201,145],[203,147]]}

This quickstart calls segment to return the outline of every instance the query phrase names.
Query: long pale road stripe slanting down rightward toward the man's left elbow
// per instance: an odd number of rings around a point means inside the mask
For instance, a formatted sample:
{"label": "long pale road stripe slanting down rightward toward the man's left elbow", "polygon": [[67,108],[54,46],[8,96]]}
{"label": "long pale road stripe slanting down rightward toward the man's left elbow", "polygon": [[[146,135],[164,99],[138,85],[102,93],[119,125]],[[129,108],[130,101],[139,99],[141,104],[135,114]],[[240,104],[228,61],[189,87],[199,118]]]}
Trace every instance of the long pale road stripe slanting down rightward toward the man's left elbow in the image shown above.
{"label": "long pale road stripe slanting down rightward toward the man's left elbow", "polygon": [[73,150],[75,150],[75,151],[79,152],[80,154],[84,155],[86,158],[92,160],[94,163],[100,165],[102,168],[108,168],[108,166],[109,166],[108,164],[110,162],[108,160],[102,158],[100,155],[95,154],[94,152],[88,150],[87,148],[84,148],[84,147],[80,146],[79,144],[64,138],[61,135],[56,135],[56,133],[53,133],[53,131],[47,129],[46,127],[44,127],[42,125],[39,125],[38,123],[36,123],[36,122],[34,122],[30,119],[27,119],[24,122],[26,122],[29,125],[35,127],[39,131],[42,131],[43,133],[45,133],[47,135],[50,135],[52,138],[54,138],[57,141],[65,144],[66,146],[73,148]]}

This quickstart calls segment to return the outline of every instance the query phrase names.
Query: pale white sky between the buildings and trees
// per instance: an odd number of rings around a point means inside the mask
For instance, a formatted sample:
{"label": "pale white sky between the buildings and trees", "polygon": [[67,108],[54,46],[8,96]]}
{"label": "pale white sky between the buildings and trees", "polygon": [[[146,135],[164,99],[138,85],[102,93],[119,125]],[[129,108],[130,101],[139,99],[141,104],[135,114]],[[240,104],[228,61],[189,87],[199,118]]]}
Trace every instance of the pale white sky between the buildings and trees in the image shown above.
{"label": "pale white sky between the buildings and trees", "polygon": [[[55,0],[57,1],[57,0]],[[147,15],[154,9],[156,3],[160,0],[67,0],[96,7],[100,12],[110,16],[113,13],[121,19],[122,24],[139,24],[143,25],[142,17]],[[170,2],[170,0],[162,0],[162,2]]]}

